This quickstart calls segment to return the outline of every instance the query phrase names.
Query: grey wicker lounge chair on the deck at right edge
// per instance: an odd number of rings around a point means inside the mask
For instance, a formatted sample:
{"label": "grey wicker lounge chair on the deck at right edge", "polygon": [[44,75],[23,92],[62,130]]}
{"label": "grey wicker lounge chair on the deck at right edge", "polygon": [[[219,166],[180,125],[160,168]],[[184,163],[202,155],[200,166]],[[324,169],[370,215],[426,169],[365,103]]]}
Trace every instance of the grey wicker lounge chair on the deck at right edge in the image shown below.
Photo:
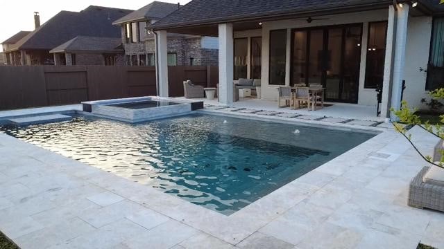
{"label": "grey wicker lounge chair on the deck at right edge", "polygon": [[422,181],[429,169],[430,167],[423,167],[411,180],[408,204],[413,208],[429,208],[444,212],[444,187]]}

